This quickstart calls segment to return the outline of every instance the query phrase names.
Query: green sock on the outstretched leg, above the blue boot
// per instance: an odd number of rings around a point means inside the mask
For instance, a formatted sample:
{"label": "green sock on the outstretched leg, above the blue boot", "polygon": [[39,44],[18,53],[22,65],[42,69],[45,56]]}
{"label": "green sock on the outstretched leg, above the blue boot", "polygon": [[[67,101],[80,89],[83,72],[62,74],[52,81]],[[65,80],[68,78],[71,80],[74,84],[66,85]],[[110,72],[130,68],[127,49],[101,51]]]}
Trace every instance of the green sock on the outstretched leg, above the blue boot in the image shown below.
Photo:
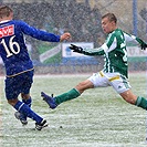
{"label": "green sock on the outstretched leg, above the blue boot", "polygon": [[81,93],[76,88],[72,88],[67,93],[61,94],[59,96],[55,96],[55,103],[59,105],[63,102],[71,101],[73,98],[76,98],[81,95]]}

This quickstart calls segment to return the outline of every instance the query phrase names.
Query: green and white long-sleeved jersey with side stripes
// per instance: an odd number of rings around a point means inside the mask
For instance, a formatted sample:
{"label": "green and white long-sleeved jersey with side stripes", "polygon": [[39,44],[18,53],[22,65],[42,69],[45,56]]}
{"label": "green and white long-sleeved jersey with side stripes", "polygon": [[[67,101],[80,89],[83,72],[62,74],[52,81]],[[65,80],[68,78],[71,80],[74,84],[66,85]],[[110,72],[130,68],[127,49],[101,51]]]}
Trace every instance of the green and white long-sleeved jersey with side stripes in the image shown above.
{"label": "green and white long-sleeved jersey with side stripes", "polygon": [[104,55],[105,65],[103,71],[106,73],[118,72],[128,77],[128,64],[127,64],[127,42],[135,42],[141,44],[143,40],[135,35],[127,34],[120,29],[116,29],[108,34],[105,43],[97,49],[84,49],[85,55]]}

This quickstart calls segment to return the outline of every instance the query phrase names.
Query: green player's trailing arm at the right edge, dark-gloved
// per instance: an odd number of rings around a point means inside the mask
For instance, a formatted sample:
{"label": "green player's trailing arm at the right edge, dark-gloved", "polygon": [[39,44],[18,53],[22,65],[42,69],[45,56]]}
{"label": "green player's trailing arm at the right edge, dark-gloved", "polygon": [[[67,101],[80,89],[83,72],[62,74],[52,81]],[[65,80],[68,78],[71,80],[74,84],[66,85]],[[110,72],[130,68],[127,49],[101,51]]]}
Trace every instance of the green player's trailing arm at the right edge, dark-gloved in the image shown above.
{"label": "green player's trailing arm at the right edge, dark-gloved", "polygon": [[141,50],[147,49],[147,43],[144,42],[141,39],[135,35],[128,34],[128,33],[124,33],[124,36],[125,36],[126,42],[135,42],[136,44],[140,45]]}

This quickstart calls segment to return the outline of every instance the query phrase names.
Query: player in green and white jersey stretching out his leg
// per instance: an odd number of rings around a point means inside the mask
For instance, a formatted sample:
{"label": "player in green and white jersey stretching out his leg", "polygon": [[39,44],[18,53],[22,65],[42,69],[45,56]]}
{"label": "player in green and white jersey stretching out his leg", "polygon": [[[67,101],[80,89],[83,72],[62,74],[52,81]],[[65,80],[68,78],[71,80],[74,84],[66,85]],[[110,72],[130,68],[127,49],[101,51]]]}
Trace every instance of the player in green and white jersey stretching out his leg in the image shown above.
{"label": "player in green and white jersey stretching out his leg", "polygon": [[49,104],[50,108],[55,108],[63,102],[78,97],[85,90],[113,86],[127,103],[147,109],[147,99],[133,94],[129,82],[127,81],[128,64],[126,43],[134,41],[140,45],[141,50],[146,50],[147,44],[141,39],[118,29],[117,18],[114,13],[107,13],[102,17],[102,28],[108,35],[101,48],[90,50],[71,44],[70,49],[73,52],[85,55],[104,55],[104,69],[93,74],[90,78],[78,83],[71,91],[55,97],[51,97],[42,92],[41,96]]}

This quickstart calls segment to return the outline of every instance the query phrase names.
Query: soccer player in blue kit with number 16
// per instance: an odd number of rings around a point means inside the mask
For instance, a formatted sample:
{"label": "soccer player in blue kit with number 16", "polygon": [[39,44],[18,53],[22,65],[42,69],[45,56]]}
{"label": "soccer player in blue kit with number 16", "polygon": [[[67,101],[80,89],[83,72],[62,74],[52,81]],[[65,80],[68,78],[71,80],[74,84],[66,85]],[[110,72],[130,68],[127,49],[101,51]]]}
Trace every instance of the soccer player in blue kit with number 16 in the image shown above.
{"label": "soccer player in blue kit with number 16", "polygon": [[[35,120],[35,128],[41,130],[48,123],[31,109],[30,88],[34,69],[27,50],[24,34],[49,42],[67,40],[71,34],[67,32],[60,36],[38,30],[23,21],[13,20],[13,10],[10,7],[0,7],[0,55],[6,67],[6,97],[17,109],[15,117],[23,125],[28,124],[27,118],[30,117]],[[18,99],[20,94],[22,102]]]}

